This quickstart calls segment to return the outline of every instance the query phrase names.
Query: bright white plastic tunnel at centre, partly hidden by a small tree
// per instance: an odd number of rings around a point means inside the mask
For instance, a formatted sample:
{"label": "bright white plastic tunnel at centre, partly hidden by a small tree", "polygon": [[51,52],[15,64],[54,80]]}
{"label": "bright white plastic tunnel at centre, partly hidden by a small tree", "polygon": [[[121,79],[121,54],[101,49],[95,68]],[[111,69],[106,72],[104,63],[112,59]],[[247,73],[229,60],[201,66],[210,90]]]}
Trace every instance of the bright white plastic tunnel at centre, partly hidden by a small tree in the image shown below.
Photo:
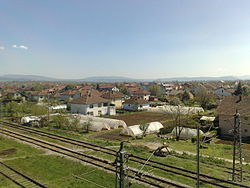
{"label": "bright white plastic tunnel at centre, partly hidden by a small tree", "polygon": [[[161,128],[163,128],[163,125],[160,122],[151,122],[146,130],[146,134],[158,133]],[[121,131],[121,135],[132,137],[142,136],[142,134],[143,131],[140,129],[140,125],[129,126]]]}

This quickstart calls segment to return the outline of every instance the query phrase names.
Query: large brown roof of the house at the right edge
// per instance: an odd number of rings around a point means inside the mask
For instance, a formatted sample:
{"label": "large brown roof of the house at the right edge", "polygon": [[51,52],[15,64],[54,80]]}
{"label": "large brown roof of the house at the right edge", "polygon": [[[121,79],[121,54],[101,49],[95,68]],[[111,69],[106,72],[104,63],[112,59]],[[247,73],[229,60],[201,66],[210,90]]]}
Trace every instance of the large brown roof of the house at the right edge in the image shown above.
{"label": "large brown roof of the house at the right edge", "polygon": [[224,97],[217,111],[222,115],[234,115],[236,109],[241,115],[250,115],[250,96]]}

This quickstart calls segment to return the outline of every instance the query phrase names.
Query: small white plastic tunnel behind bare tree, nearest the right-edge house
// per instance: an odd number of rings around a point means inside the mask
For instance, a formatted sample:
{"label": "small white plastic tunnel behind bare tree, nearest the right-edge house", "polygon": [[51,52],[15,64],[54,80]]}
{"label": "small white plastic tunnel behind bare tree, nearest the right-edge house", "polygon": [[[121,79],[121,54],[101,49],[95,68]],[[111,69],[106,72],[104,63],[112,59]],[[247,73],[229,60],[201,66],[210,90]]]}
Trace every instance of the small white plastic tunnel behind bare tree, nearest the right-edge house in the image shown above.
{"label": "small white plastic tunnel behind bare tree, nearest the right-edge house", "polygon": [[[191,129],[191,128],[186,128],[186,127],[175,127],[171,134],[175,137],[176,136],[176,131],[177,134],[179,134],[180,132],[180,139],[181,140],[187,140],[187,139],[191,139],[194,136],[197,136],[197,130],[196,129]],[[200,130],[200,135],[203,135],[203,131]]]}

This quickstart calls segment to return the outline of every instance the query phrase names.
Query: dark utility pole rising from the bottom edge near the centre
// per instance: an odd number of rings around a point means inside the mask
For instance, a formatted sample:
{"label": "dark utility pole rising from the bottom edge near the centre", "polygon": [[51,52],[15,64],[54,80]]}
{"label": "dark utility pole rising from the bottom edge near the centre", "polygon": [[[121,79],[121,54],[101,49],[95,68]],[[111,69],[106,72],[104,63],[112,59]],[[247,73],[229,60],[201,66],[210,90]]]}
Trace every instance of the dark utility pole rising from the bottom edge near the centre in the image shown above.
{"label": "dark utility pole rising from the bottom edge near the centre", "polygon": [[124,141],[120,144],[120,149],[117,152],[115,166],[116,166],[116,185],[115,188],[128,188],[128,175],[127,175],[127,164],[128,155],[124,150]]}

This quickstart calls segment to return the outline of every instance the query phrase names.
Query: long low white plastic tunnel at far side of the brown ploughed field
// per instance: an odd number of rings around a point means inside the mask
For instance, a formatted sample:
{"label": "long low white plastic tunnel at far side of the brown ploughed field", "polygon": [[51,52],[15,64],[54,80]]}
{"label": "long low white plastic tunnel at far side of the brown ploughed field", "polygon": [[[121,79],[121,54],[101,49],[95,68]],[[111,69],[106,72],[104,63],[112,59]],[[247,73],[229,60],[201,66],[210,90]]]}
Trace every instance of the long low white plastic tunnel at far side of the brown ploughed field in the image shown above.
{"label": "long low white plastic tunnel at far side of the brown ploughed field", "polygon": [[204,112],[204,109],[202,107],[164,105],[164,106],[149,107],[147,111],[154,113],[166,113],[166,114],[180,113],[186,115],[186,114],[197,114],[200,112]]}

